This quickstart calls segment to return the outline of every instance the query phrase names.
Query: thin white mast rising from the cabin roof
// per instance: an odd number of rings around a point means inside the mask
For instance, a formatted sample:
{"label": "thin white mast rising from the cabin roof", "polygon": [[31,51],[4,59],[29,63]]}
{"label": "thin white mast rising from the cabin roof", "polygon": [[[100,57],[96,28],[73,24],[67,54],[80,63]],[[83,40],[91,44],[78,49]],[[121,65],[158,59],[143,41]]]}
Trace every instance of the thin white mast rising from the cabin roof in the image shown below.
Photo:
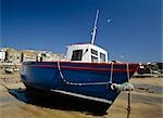
{"label": "thin white mast rising from the cabin roof", "polygon": [[92,37],[91,37],[91,44],[93,44],[95,38],[96,38],[96,34],[97,34],[98,17],[99,17],[99,10],[97,10],[96,19],[95,19],[95,24],[93,24],[93,30],[91,32],[91,35],[92,35]]}

